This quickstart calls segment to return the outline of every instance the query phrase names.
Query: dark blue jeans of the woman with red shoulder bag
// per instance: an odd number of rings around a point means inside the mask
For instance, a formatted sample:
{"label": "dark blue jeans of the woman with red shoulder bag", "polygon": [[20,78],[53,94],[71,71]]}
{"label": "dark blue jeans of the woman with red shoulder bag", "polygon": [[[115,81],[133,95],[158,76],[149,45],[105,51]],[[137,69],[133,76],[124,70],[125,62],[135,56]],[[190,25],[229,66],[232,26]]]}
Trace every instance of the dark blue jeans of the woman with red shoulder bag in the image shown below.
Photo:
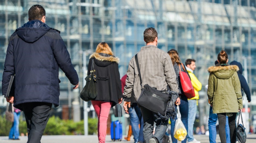
{"label": "dark blue jeans of the woman with red shoulder bag", "polygon": [[[184,124],[186,130],[187,130],[187,117],[188,117],[188,102],[187,102],[187,97],[186,96],[181,96],[180,99],[180,115],[181,115],[181,121]],[[175,106],[176,110],[177,107]],[[171,138],[172,138],[172,143],[177,143],[177,139],[174,138],[173,134],[174,134],[174,128],[175,128],[175,121],[170,118],[171,120]],[[175,120],[177,120],[177,116],[175,117]],[[187,142],[187,138],[185,138],[183,141],[181,141],[181,143],[186,143]]]}

